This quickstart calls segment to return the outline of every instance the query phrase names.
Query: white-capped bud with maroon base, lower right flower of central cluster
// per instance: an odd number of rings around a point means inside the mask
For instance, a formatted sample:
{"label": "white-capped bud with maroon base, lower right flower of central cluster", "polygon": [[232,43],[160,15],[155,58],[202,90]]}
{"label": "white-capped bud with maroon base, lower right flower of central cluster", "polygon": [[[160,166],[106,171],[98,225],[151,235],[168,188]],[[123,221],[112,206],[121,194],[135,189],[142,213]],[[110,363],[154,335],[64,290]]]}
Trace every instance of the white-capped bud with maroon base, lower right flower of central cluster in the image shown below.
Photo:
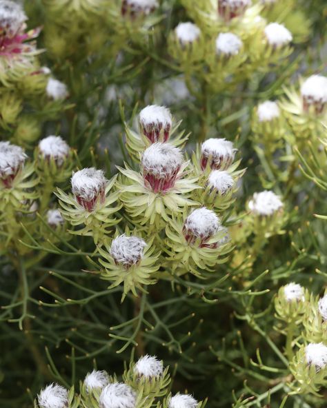
{"label": "white-capped bud with maroon base, lower right flower of central cluster", "polygon": [[218,216],[206,207],[197,208],[184,221],[183,234],[189,245],[199,243],[206,247],[206,241],[221,229]]}

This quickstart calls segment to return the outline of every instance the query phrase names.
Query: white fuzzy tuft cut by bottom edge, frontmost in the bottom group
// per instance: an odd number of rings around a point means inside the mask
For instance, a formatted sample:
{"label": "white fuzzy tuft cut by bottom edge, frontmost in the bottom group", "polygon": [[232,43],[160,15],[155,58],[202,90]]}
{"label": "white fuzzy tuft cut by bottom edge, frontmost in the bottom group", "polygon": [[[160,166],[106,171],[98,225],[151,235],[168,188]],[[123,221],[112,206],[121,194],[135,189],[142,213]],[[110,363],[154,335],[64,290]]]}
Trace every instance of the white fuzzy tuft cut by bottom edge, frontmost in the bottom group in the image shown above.
{"label": "white fuzzy tuft cut by bottom edge, frontmost in the bottom group", "polygon": [[135,405],[135,391],[123,383],[108,384],[99,399],[99,408],[135,408]]}

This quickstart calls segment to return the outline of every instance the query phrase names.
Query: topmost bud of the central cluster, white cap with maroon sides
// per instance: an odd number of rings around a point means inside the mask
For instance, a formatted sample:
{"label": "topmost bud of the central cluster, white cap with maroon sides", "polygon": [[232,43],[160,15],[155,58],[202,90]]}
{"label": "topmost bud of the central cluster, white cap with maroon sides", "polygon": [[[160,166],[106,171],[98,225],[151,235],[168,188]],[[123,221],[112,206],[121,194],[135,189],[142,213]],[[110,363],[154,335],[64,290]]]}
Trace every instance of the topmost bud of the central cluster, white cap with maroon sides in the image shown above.
{"label": "topmost bud of the central cluster, white cap with maroon sides", "polygon": [[172,115],[165,106],[148,105],[139,112],[141,132],[151,143],[168,141],[172,126]]}

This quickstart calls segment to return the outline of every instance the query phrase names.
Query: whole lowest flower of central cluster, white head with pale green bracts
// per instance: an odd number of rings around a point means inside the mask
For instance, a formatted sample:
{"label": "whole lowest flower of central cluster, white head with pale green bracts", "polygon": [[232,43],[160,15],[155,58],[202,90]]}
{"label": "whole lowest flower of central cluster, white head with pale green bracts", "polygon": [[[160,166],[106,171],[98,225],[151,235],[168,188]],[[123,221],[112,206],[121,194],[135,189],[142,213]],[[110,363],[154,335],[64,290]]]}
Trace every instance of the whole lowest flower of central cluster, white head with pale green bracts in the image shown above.
{"label": "whole lowest flower of central cluster, white head with pale green bracts", "polygon": [[116,233],[111,245],[106,242],[103,248],[99,248],[103,258],[99,258],[99,262],[104,268],[101,277],[112,281],[110,288],[123,283],[121,301],[128,292],[138,296],[137,289],[144,292],[143,285],[157,282],[153,274],[159,269],[159,253],[155,253],[153,239],[146,242],[129,232],[123,235]]}

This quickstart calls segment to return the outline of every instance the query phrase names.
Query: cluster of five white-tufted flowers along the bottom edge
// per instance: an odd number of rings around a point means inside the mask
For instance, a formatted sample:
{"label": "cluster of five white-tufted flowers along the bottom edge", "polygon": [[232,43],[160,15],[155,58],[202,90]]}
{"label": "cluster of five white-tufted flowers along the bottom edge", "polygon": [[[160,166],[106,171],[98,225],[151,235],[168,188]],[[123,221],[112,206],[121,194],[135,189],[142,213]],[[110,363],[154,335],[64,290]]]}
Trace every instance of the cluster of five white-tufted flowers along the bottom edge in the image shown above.
{"label": "cluster of five white-tufted flowers along the bottom edge", "polygon": [[172,395],[168,391],[168,367],[155,356],[143,356],[131,363],[123,373],[123,382],[106,371],[93,370],[80,383],[75,394],[58,384],[42,389],[34,401],[37,408],[204,408],[206,401],[198,402],[189,394]]}

